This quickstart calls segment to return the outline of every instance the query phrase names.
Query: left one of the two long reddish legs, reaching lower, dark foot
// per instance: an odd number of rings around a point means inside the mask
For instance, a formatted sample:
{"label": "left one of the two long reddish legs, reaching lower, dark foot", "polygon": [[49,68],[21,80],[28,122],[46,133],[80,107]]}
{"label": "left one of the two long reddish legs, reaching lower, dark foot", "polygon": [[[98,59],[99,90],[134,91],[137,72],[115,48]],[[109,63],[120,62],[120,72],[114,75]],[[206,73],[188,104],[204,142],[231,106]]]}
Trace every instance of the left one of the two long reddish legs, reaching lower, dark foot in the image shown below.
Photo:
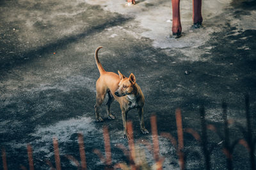
{"label": "left one of the two long reddish legs, reaching lower, dark foot", "polygon": [[172,34],[175,36],[181,34],[180,0],[172,0]]}

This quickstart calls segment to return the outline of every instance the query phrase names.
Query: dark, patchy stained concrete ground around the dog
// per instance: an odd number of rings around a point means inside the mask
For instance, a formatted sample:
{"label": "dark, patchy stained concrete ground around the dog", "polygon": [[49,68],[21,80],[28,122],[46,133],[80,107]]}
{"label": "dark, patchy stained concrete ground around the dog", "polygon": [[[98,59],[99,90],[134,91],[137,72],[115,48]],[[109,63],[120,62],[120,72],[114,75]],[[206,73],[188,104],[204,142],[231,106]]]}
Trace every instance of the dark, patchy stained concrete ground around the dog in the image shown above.
{"label": "dark, patchy stained concrete ground around the dog", "polygon": [[[207,124],[223,132],[221,101],[228,103],[228,118],[246,126],[244,95],[250,95],[255,128],[255,1],[203,1],[204,23],[191,29],[191,1],[180,1],[182,37],[170,37],[171,1],[0,1],[0,145],[6,150],[9,169],[28,167],[28,143],[36,169],[54,164],[52,138],[58,138],[62,169],[77,169],[65,155],[79,158],[77,132],[84,135],[88,169],[104,163],[93,150],[104,153],[102,127],[108,126],[112,162],[127,162],[122,150],[122,118],[118,103],[111,110],[115,120],[96,123],[95,81],[99,71],[93,53],[104,46],[99,58],[107,71],[134,73],[145,95],[145,126],[157,116],[157,129],[175,138],[175,109],[182,110],[183,127],[200,133],[199,107],[204,105]],[[186,75],[185,71],[189,71]],[[134,140],[152,141],[140,134],[136,111],[129,112]],[[212,169],[225,169],[223,144],[209,131]],[[253,135],[256,136],[253,129]],[[243,137],[230,124],[230,138]],[[220,143],[218,145],[218,143]],[[216,145],[217,144],[217,145]],[[149,166],[154,156],[143,145]],[[184,132],[186,169],[204,169],[201,146]],[[179,169],[173,145],[159,136],[164,169]],[[127,162],[129,163],[129,161]],[[234,169],[249,169],[248,151],[237,145]],[[3,167],[3,163],[0,163]]]}

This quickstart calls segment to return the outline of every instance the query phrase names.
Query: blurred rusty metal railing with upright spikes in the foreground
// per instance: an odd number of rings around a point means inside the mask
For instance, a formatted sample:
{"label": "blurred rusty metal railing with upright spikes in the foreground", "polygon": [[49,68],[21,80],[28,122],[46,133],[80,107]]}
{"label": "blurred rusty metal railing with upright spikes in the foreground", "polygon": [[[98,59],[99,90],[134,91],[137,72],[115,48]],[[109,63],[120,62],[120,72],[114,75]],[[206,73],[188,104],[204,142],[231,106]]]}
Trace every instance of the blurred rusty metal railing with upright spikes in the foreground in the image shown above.
{"label": "blurred rusty metal railing with upright spikes in the foreground", "polygon": [[[172,136],[172,134],[168,132],[161,132],[160,135],[157,134],[157,120],[156,115],[153,115],[150,118],[150,124],[152,129],[152,141],[153,144],[146,140],[140,141],[141,144],[145,145],[148,150],[152,150],[152,153],[154,155],[155,164],[152,167],[149,167],[147,164],[147,160],[138,160],[136,159],[136,156],[138,155],[136,153],[136,146],[134,145],[134,138],[132,133],[132,122],[127,122],[127,129],[129,131],[129,134],[131,136],[131,139],[128,141],[129,148],[126,148],[122,144],[117,144],[116,147],[120,148],[124,152],[125,157],[127,157],[127,160],[129,160],[129,165],[126,163],[118,163],[113,164],[111,161],[111,145],[110,145],[110,139],[109,139],[109,132],[108,127],[103,127],[103,137],[104,137],[104,149],[105,149],[105,155],[104,153],[101,153],[98,149],[93,150],[95,154],[98,155],[100,161],[105,165],[105,169],[140,169],[141,167],[146,167],[146,169],[163,169],[163,162],[164,157],[161,157],[159,154],[159,140],[158,137],[164,137],[166,139],[170,140],[170,143],[174,146],[174,148],[177,151],[177,156],[179,157],[179,166],[180,169],[185,169],[186,167],[186,161],[184,159],[186,153],[184,152],[184,138],[183,138],[183,132],[191,134],[198,143],[202,146],[202,152],[204,153],[204,160],[205,160],[205,169],[211,169],[211,152],[212,150],[207,147],[209,141],[207,138],[207,130],[212,131],[216,133],[221,141],[223,141],[223,148],[222,151],[226,155],[227,159],[227,169],[233,169],[232,167],[232,160],[234,152],[234,148],[237,144],[244,146],[248,150],[248,153],[250,155],[250,167],[251,169],[255,170],[255,143],[256,138],[252,134],[252,124],[251,124],[251,116],[250,116],[250,103],[249,103],[249,97],[246,96],[245,99],[245,113],[246,113],[246,128],[244,128],[241,124],[234,122],[232,120],[227,119],[227,104],[225,102],[222,103],[222,110],[223,110],[223,120],[224,120],[224,129],[223,133],[221,133],[221,129],[217,129],[212,124],[207,124],[205,121],[205,109],[204,106],[200,108],[200,122],[201,122],[201,134],[196,132],[195,130],[189,128],[189,129],[183,129],[182,128],[182,115],[181,111],[178,108],[175,111],[175,118],[176,118],[176,125],[177,125],[177,139]],[[235,139],[232,143],[230,142],[230,134],[228,129],[228,124],[235,124],[243,133],[243,138]],[[74,164],[77,166],[77,169],[87,169],[86,165],[86,154],[85,154],[85,148],[84,148],[84,138],[83,134],[78,134],[78,145],[79,145],[79,153],[80,153],[80,159],[77,160],[72,155],[65,155],[67,159],[74,162]],[[58,139],[53,138],[53,146],[54,146],[54,158],[55,158],[55,167],[53,166],[52,162],[49,160],[45,160],[45,164],[47,164],[51,169],[61,169],[61,160],[60,160],[60,152],[58,148]],[[33,150],[32,146],[28,144],[27,146],[28,150],[28,165],[29,169],[34,169],[33,164]],[[1,156],[3,161],[3,169],[7,170],[7,161],[6,161],[6,150],[2,148],[1,150]],[[20,165],[20,169],[27,169],[25,166]]]}

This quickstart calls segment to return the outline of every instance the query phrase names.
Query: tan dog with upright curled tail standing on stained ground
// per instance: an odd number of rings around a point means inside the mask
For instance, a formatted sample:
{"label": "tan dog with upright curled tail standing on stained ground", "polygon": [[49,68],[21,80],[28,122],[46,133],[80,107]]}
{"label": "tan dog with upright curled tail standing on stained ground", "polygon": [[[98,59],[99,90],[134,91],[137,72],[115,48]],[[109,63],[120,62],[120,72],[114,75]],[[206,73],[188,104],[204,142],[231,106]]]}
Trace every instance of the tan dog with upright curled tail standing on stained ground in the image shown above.
{"label": "tan dog with upright curled tail standing on stained ground", "polygon": [[140,87],[136,83],[136,78],[134,74],[130,74],[129,78],[125,77],[123,74],[118,71],[118,74],[113,72],[105,71],[100,64],[98,58],[98,51],[102,48],[99,46],[95,51],[95,60],[97,67],[100,72],[100,77],[96,82],[96,104],[95,115],[96,121],[102,122],[102,118],[99,116],[99,106],[104,101],[106,94],[108,94],[108,103],[107,103],[107,112],[109,119],[115,119],[113,115],[110,113],[110,105],[116,99],[120,104],[120,108],[122,110],[122,119],[124,124],[124,138],[130,139],[130,136],[127,132],[126,121],[127,121],[127,113],[129,110],[137,108],[139,117],[140,117],[140,129],[143,134],[147,134],[148,131],[145,129],[144,121],[143,121],[143,105],[144,105],[144,96],[141,92]]}

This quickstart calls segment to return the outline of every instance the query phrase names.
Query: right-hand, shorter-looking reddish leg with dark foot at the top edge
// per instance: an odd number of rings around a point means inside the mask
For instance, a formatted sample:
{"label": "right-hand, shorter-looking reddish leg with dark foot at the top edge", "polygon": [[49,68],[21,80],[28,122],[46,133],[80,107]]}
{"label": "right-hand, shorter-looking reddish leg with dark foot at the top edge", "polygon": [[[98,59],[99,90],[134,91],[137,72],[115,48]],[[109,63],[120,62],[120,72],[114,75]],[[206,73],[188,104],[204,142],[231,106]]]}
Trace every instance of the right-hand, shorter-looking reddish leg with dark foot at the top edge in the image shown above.
{"label": "right-hand, shorter-looking reddish leg with dark foot at the top edge", "polygon": [[193,24],[202,24],[202,0],[193,0]]}

